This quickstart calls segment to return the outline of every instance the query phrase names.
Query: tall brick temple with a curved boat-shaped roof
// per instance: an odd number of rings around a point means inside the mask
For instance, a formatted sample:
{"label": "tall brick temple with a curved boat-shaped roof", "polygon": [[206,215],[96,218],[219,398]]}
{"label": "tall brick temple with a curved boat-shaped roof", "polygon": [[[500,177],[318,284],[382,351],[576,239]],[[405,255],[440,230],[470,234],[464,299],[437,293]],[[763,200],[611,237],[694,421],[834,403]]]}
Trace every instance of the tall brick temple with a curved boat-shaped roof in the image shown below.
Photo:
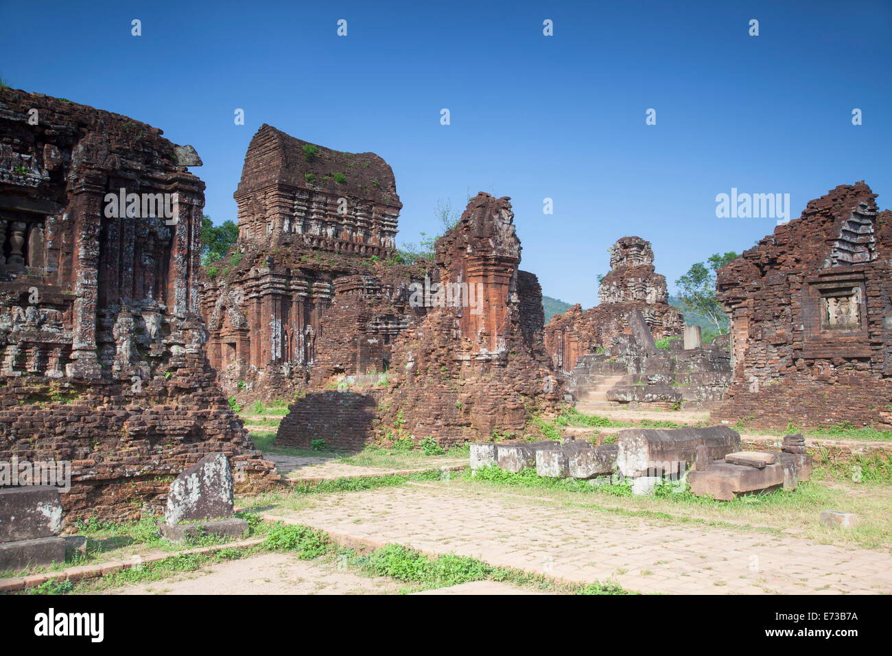
{"label": "tall brick temple with a curved boat-shaped roof", "polygon": [[[264,125],[235,200],[238,242],[209,268],[202,294],[208,355],[227,394],[292,398],[316,367],[385,369],[393,337],[408,324],[387,306],[393,284],[382,278],[411,270],[384,267],[402,207],[390,166]],[[341,313],[326,331],[323,317],[339,295]],[[367,296],[378,307],[351,319],[351,303]]]}

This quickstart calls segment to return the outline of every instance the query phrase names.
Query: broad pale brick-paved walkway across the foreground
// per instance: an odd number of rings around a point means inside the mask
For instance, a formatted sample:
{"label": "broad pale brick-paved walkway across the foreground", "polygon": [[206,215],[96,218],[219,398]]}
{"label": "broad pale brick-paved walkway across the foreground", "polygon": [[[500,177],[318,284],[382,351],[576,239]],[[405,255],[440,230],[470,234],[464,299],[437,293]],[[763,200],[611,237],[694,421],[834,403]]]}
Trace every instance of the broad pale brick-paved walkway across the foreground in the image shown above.
{"label": "broad pale brick-paved walkway across the foreground", "polygon": [[892,593],[892,556],[754,530],[616,516],[430,486],[334,494],[276,514],[327,531],[642,593]]}

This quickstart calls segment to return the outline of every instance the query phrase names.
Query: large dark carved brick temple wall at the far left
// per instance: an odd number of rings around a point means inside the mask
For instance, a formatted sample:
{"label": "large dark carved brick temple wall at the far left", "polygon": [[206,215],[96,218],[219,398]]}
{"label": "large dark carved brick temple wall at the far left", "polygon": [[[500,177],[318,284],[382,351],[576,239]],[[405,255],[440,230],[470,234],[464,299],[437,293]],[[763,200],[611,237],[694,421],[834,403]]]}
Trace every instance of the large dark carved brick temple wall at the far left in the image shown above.
{"label": "large dark carved brick temple wall at the far left", "polygon": [[202,350],[200,163],[145,123],[0,89],[0,460],[69,461],[72,519],[155,511],[205,453],[243,489],[271,479]]}

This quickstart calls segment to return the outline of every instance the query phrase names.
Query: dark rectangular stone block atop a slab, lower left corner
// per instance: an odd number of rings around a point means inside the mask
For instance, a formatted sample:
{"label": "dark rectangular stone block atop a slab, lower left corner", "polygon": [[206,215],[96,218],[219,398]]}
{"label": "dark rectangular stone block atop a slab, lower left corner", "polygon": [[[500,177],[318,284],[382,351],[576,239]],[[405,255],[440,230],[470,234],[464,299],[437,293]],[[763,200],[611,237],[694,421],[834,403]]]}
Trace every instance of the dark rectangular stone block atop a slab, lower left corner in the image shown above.
{"label": "dark rectangular stone block atop a slab, lower left corner", "polygon": [[36,540],[62,530],[62,502],[53,486],[0,488],[0,543]]}

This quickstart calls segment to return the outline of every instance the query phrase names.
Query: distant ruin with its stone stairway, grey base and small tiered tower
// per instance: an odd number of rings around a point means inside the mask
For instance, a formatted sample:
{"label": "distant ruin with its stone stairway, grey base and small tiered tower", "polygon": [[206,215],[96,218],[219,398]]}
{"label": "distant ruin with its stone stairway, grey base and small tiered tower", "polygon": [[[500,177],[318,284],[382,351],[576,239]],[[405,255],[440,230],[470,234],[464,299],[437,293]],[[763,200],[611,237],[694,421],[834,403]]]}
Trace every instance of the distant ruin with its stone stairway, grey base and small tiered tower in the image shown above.
{"label": "distant ruin with its stone stairway, grey base and small tiered tower", "polygon": [[[600,303],[586,311],[576,304],[545,328],[567,400],[590,410],[715,407],[731,380],[727,338],[704,345],[699,328],[684,326],[681,311],[668,303],[665,278],[654,270],[649,242],[623,237],[609,251]],[[655,340],[668,337],[675,339],[658,349]]]}

